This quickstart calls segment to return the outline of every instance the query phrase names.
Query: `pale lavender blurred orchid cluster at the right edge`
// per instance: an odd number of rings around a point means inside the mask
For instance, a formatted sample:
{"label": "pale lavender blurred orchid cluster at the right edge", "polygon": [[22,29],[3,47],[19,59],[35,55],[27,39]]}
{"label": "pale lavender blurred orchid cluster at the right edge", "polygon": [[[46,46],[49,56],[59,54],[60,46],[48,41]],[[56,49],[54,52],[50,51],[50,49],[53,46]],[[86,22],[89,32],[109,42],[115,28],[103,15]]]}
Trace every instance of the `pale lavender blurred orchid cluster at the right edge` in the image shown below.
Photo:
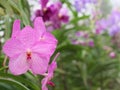
{"label": "pale lavender blurred orchid cluster at the right edge", "polygon": [[101,19],[96,23],[96,32],[103,32],[108,30],[110,36],[114,36],[116,33],[120,32],[120,12],[112,11],[112,13],[106,18]]}

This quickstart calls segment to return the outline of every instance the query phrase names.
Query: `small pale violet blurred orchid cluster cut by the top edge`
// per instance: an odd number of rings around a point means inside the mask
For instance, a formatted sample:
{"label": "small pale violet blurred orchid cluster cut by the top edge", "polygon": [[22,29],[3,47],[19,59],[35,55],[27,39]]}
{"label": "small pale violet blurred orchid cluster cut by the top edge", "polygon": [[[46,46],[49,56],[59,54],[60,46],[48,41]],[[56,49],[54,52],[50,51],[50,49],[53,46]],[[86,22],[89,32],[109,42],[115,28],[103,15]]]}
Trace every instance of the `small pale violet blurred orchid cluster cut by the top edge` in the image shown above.
{"label": "small pale violet blurred orchid cluster cut by the top edge", "polygon": [[78,12],[81,12],[83,8],[86,8],[86,4],[90,4],[90,3],[95,4],[96,2],[97,0],[75,0],[74,6]]}

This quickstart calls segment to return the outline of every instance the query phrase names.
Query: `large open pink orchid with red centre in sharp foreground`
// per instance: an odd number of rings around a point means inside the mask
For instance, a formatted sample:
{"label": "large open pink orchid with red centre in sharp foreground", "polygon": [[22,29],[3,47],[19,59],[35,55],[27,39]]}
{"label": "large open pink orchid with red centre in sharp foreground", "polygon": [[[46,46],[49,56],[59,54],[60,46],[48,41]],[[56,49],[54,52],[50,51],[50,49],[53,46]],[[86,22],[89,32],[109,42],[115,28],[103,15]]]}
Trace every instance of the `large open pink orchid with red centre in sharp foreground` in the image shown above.
{"label": "large open pink orchid with red centre in sharp foreground", "polygon": [[55,37],[46,32],[41,17],[35,19],[34,28],[25,26],[20,30],[20,21],[13,24],[12,37],[3,46],[3,52],[9,56],[9,69],[14,75],[28,70],[34,74],[47,71],[51,55],[57,45]]}

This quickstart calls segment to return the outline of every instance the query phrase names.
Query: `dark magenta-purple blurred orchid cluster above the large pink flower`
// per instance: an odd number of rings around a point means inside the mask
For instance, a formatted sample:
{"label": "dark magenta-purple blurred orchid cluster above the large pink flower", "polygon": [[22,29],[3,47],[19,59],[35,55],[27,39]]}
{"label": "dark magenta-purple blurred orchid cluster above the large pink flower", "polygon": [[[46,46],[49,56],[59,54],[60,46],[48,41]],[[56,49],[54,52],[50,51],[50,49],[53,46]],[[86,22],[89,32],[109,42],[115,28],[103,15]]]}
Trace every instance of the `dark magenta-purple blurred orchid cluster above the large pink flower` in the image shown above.
{"label": "dark magenta-purple blurred orchid cluster above the large pink flower", "polygon": [[[59,29],[61,27],[61,23],[68,23],[69,16],[67,14],[68,10],[62,7],[61,2],[55,2],[50,6],[47,6],[49,0],[40,0],[41,9],[37,10],[33,15],[32,19],[34,20],[36,17],[43,17],[45,23],[49,23],[49,27],[52,26],[53,29]],[[51,31],[51,30],[49,30]]]}

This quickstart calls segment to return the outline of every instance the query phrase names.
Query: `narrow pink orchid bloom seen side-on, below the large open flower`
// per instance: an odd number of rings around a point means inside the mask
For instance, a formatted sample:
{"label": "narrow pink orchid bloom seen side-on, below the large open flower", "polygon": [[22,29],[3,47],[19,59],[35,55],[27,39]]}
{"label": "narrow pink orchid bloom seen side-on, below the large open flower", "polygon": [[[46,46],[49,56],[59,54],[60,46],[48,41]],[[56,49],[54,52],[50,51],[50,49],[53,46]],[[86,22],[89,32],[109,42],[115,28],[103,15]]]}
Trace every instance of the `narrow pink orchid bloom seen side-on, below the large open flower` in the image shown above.
{"label": "narrow pink orchid bloom seen side-on, below the large open flower", "polygon": [[55,84],[50,81],[53,78],[55,69],[57,68],[56,58],[59,56],[59,53],[55,56],[54,60],[48,67],[48,73],[43,74],[45,77],[42,79],[42,90],[48,90],[47,84],[50,86],[55,86]]}

